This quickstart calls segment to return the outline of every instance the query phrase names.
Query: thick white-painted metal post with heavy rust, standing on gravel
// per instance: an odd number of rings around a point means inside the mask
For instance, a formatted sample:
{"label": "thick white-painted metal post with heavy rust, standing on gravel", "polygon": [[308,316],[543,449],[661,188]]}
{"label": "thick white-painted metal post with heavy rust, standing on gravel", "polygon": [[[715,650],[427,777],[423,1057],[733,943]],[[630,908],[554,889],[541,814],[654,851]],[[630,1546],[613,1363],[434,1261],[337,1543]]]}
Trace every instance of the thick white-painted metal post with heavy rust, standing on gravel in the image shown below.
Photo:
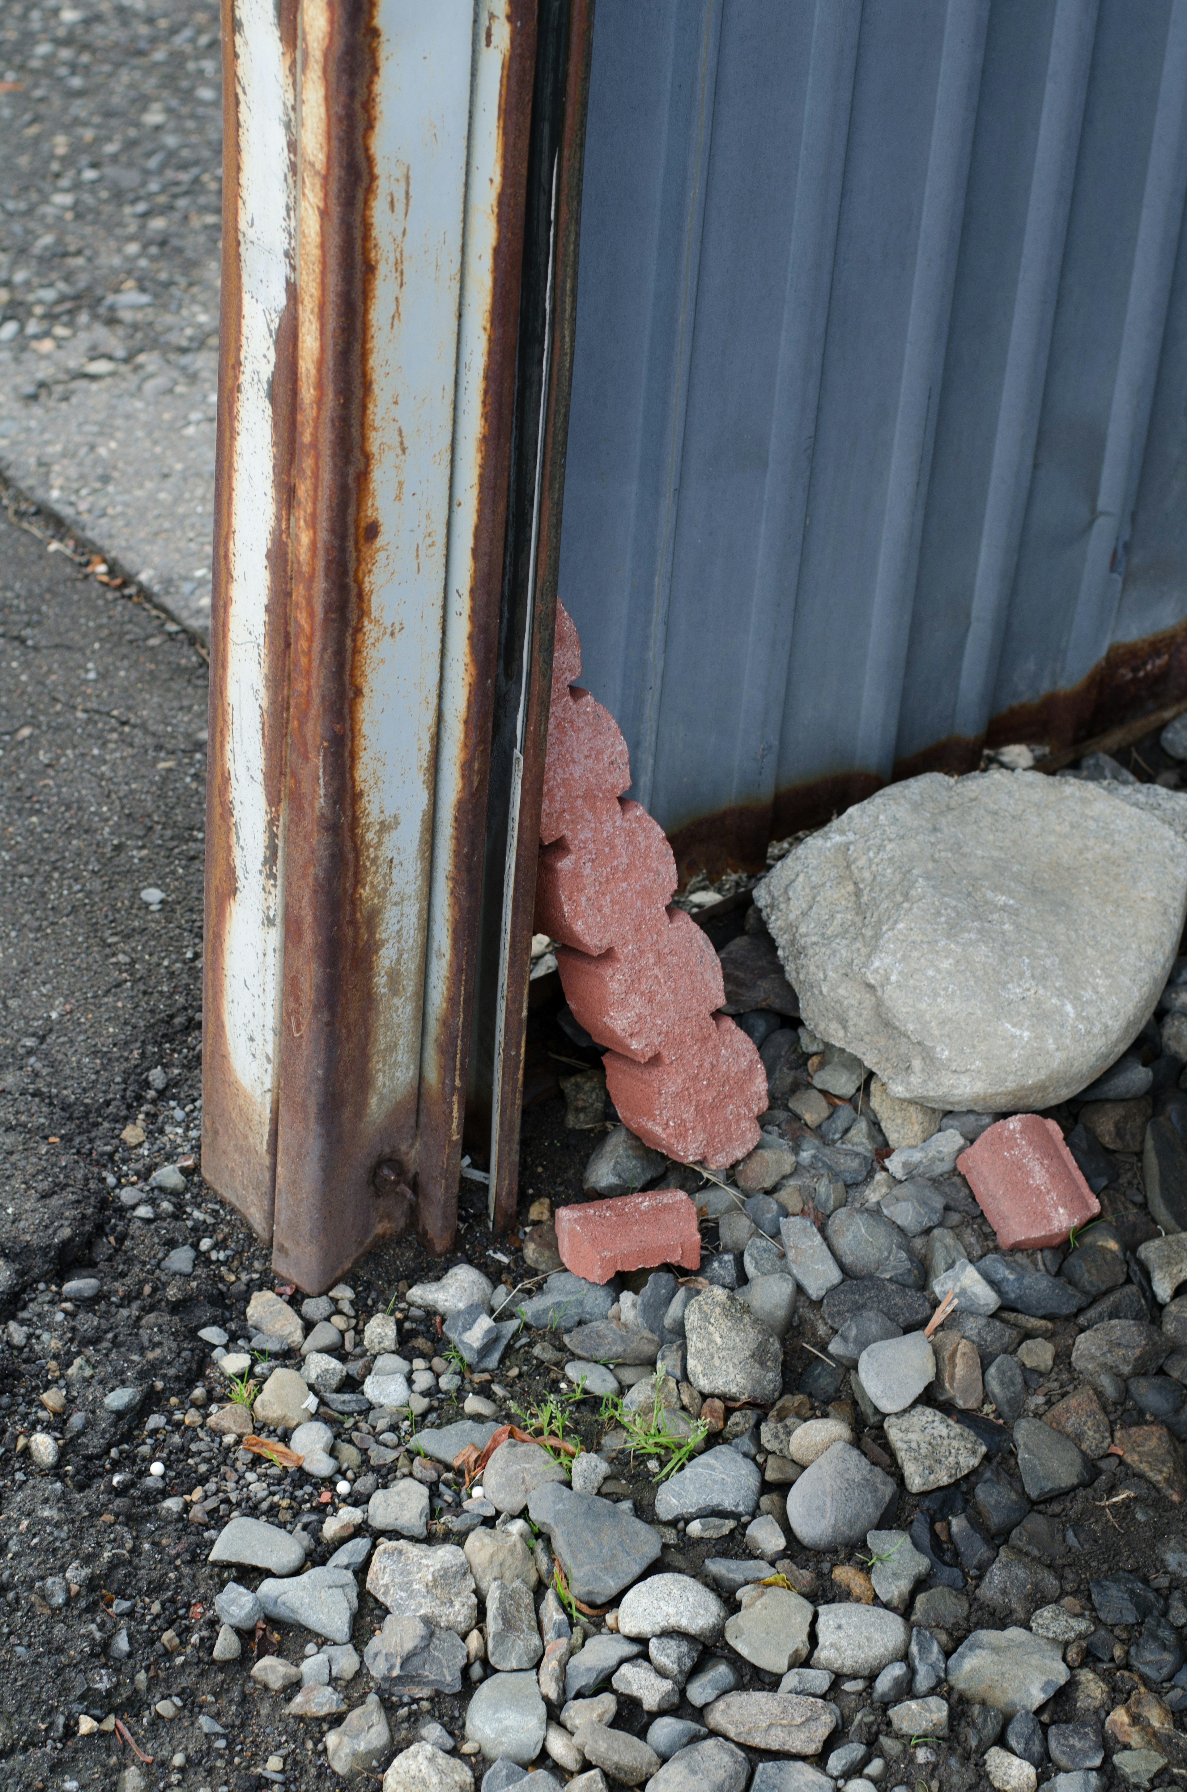
{"label": "thick white-painted metal post with heavy rust, standing on gravel", "polygon": [[226,38],[204,1172],[319,1290],[455,1222],[536,5],[228,0]]}

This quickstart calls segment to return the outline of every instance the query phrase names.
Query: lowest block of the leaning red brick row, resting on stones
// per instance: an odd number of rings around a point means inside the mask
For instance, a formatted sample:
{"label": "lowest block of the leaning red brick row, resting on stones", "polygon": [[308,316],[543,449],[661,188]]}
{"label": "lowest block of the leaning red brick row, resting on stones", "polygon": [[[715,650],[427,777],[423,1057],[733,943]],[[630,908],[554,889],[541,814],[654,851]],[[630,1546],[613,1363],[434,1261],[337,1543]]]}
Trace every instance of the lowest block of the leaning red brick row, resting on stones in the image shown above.
{"label": "lowest block of the leaning red brick row, resting on stones", "polygon": [[680,1163],[724,1168],[758,1143],[762,1059],[728,1014],[689,1016],[676,1052],[637,1064],[608,1052],[606,1090],[622,1124]]}

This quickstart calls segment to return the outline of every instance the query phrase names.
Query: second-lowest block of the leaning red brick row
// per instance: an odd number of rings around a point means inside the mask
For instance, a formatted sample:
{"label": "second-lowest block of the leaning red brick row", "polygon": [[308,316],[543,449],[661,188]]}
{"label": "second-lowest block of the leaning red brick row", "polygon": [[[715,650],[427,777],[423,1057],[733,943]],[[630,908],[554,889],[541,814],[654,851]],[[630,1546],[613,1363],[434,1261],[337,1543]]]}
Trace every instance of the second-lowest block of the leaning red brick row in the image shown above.
{"label": "second-lowest block of the leaning red brick row", "polygon": [[678,1048],[689,1014],[712,1014],[726,998],[721,959],[683,909],[662,909],[658,925],[592,959],[561,946],[565,998],[590,1038],[645,1063]]}

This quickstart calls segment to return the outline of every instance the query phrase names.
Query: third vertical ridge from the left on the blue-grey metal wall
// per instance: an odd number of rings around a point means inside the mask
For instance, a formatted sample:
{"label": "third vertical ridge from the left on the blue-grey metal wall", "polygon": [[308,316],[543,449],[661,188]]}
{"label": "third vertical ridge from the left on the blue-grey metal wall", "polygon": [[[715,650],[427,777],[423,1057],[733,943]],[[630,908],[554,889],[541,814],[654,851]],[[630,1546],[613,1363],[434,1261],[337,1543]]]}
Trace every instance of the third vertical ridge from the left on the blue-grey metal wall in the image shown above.
{"label": "third vertical ridge from the left on the blue-grey metal wall", "polygon": [[988,20],[988,0],[949,0],[855,742],[857,765],[884,778],[895,762]]}

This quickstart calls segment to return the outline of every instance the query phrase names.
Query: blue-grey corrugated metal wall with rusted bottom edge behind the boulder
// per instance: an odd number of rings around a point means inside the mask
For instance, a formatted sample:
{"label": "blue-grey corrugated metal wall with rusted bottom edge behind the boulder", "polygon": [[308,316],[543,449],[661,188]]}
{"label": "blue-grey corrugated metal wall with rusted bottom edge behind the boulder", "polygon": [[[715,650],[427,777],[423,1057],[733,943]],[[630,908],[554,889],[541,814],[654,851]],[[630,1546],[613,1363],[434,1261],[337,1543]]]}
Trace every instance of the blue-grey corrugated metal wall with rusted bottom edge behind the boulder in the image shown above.
{"label": "blue-grey corrugated metal wall with rusted bottom edge behind the boulder", "polygon": [[1187,0],[599,0],[559,590],[669,833],[1183,622],[1185,113]]}

